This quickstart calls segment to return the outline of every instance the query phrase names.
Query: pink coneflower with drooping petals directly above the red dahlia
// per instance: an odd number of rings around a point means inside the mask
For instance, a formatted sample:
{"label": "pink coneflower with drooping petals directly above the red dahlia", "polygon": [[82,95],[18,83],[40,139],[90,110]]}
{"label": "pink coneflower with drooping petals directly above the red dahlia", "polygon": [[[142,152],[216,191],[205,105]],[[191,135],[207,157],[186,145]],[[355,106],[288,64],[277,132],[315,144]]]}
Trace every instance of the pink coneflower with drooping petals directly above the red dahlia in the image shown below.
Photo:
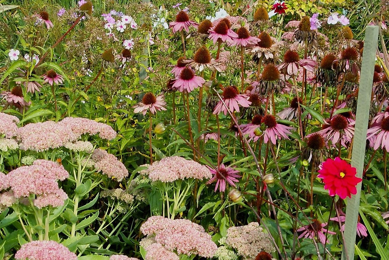
{"label": "pink coneflower with drooping petals directly above the red dahlia", "polygon": [[[331,121],[328,123],[324,122],[322,126],[322,130],[318,133],[322,134],[326,141],[330,142],[332,146],[336,146],[338,142],[342,144],[342,146],[347,147],[347,144],[351,142],[352,137],[354,136],[354,125],[355,121],[347,120],[345,116],[336,115]],[[308,136],[307,136],[308,137]]]}

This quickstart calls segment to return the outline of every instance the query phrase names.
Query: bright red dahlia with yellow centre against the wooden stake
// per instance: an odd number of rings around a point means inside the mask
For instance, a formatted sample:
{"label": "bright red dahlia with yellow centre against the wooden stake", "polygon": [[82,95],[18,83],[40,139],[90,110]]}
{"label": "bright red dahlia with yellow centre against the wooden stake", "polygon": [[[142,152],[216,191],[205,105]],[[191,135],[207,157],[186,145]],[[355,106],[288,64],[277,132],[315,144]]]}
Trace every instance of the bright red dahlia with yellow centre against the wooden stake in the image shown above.
{"label": "bright red dahlia with yellow centre against the wooden stake", "polygon": [[330,196],[339,195],[340,198],[351,198],[351,194],[357,194],[356,185],[362,181],[355,177],[357,170],[346,161],[336,157],[328,158],[319,166],[319,177],[324,183],[324,189]]}

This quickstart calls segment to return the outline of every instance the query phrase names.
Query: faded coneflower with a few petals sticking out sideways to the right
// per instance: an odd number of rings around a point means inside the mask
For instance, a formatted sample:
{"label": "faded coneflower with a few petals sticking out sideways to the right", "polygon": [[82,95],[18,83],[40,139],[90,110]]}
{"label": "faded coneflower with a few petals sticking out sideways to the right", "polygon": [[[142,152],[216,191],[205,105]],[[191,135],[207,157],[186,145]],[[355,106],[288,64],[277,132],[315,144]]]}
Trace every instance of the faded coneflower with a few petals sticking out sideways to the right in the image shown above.
{"label": "faded coneflower with a few petals sticking out sideways to the right", "polygon": [[296,76],[298,74],[299,66],[310,72],[313,72],[317,66],[317,62],[311,59],[300,60],[300,57],[296,51],[288,50],[284,54],[284,62],[279,65],[279,69],[283,70],[284,74]]}

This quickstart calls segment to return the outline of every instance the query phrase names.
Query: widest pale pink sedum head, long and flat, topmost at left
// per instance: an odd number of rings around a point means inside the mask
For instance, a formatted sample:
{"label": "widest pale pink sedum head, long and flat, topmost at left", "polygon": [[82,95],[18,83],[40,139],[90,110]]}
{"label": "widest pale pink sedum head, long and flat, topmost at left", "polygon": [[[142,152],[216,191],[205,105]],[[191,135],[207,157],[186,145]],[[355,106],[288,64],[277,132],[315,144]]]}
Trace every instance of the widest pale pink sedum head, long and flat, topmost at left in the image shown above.
{"label": "widest pale pink sedum head, long and flat, topmost at left", "polygon": [[62,121],[30,123],[17,129],[17,139],[23,150],[46,151],[77,141],[83,134],[99,134],[102,139],[114,139],[115,130],[88,118],[64,118]]}

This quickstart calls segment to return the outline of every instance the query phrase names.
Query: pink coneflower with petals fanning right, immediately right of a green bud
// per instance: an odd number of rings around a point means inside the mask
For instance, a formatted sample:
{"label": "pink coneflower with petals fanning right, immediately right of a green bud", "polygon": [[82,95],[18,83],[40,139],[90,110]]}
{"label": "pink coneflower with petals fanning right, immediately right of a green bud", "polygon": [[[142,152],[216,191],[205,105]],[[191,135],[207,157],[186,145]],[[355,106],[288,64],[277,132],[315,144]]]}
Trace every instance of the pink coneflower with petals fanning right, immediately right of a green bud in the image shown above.
{"label": "pink coneflower with petals fanning right, immediately right of a green bud", "polygon": [[289,139],[287,135],[291,134],[289,130],[293,129],[291,126],[286,126],[277,123],[277,120],[273,115],[265,115],[262,118],[262,123],[265,124],[266,129],[263,133],[264,138],[263,141],[265,144],[270,140],[273,144],[277,139],[281,139],[284,137],[285,139]]}

